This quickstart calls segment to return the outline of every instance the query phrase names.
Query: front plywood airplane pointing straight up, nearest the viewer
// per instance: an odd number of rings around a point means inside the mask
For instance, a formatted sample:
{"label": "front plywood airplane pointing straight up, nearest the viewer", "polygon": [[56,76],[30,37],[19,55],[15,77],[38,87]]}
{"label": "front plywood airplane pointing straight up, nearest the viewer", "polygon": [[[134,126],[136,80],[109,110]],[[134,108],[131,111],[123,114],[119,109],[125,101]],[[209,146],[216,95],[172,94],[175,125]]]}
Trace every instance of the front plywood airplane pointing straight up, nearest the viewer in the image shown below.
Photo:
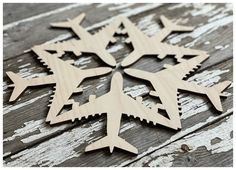
{"label": "front plywood airplane pointing straight up, nearest the viewer", "polygon": [[85,151],[96,150],[109,147],[113,152],[114,147],[137,154],[138,150],[118,136],[122,114],[138,117],[140,120],[152,122],[154,125],[160,124],[172,129],[177,129],[175,123],[158,113],[159,105],[148,108],[142,104],[142,98],[136,100],[124,94],[123,79],[119,72],[114,73],[111,80],[110,92],[101,97],[95,98],[94,95],[89,97],[89,102],[83,105],[74,103],[72,110],[57,116],[51,124],[64,122],[66,120],[74,121],[76,118],[94,116],[95,114],[107,114],[107,136],[90,144]]}

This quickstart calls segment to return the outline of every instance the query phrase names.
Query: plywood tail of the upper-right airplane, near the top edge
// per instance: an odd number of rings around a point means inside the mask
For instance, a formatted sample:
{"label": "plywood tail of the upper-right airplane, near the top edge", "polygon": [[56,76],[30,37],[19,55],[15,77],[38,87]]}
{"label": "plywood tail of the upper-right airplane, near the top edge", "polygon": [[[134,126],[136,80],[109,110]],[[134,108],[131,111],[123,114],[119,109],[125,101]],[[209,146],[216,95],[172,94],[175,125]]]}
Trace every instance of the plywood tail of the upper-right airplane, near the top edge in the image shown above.
{"label": "plywood tail of the upper-right airplane, near the top edge", "polygon": [[166,27],[171,29],[172,31],[176,32],[186,32],[186,31],[192,31],[194,28],[193,27],[188,27],[188,26],[181,26],[172,23],[169,19],[167,19],[165,16],[160,17],[162,24]]}

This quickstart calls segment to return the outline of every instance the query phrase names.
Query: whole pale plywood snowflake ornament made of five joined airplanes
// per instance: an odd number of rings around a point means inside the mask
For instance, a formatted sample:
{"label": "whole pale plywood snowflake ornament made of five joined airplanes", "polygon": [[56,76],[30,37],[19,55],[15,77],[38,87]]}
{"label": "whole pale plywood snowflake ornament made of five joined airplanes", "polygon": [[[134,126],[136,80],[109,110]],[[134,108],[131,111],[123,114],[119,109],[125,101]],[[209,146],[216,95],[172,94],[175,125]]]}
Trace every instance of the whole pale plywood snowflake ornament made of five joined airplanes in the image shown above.
{"label": "whole pale plywood snowflake ornament made of five joined airplanes", "polygon": [[[183,80],[183,78],[191,71],[197,69],[209,57],[207,53],[162,42],[170,33],[176,31],[192,31],[192,27],[176,25],[166,17],[161,16],[164,28],[155,36],[148,37],[127,18],[118,17],[110,25],[92,35],[79,25],[84,16],[84,14],[81,14],[73,20],[68,19],[67,22],[52,24],[54,27],[71,28],[79,36],[79,40],[71,39],[59,43],[42,44],[32,48],[38,55],[38,59],[53,74],[25,80],[13,72],[7,72],[7,75],[14,82],[13,85],[10,85],[14,87],[10,101],[16,100],[29,86],[56,84],[54,95],[52,96],[53,99],[49,105],[50,108],[46,118],[47,122],[55,124],[106,113],[107,136],[87,146],[85,151],[109,147],[110,152],[113,152],[114,147],[118,147],[135,154],[138,153],[137,148],[118,136],[122,114],[138,117],[141,121],[146,120],[148,123],[160,124],[171,129],[181,128],[177,98],[179,89],[207,95],[214,107],[222,112],[220,96],[224,96],[223,90],[231,84],[230,81],[224,81],[213,87],[202,87]],[[123,24],[124,30],[119,28],[121,24]],[[106,50],[106,47],[110,42],[115,42],[115,38],[113,37],[115,33],[128,34],[126,43],[132,43],[134,47],[134,51],[122,61],[122,67],[127,67],[135,63],[145,55],[156,55],[159,59],[163,59],[167,55],[172,55],[180,62],[173,66],[164,65],[165,69],[157,73],[130,68],[125,69],[125,73],[131,77],[150,81],[155,89],[155,91],[150,92],[150,95],[159,97],[161,103],[154,104],[151,108],[148,108],[142,104],[142,97],[133,99],[124,94],[123,78],[118,72],[114,73],[111,80],[110,92],[107,94],[98,98],[90,95],[89,102],[82,105],[70,99],[73,93],[83,91],[80,85],[84,79],[104,75],[112,71],[110,67],[115,66],[116,61]],[[55,53],[52,54],[50,51],[54,51]],[[73,52],[78,57],[83,52],[95,53],[110,67],[81,70],[73,66],[74,60],[63,61],[60,58],[65,52]],[[183,59],[186,55],[193,56],[193,58],[188,60]],[[72,109],[60,114],[60,111],[65,105],[72,105]],[[160,110],[165,110],[169,118],[161,115]]]}

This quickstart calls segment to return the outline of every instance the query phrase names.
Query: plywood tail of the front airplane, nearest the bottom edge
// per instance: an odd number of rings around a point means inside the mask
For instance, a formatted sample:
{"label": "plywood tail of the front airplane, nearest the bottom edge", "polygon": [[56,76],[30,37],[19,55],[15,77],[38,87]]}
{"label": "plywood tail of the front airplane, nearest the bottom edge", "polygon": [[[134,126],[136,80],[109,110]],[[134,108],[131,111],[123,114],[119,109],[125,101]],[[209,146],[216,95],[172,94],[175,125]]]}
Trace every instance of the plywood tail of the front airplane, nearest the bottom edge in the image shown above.
{"label": "plywood tail of the front airplane, nearest the bottom edge", "polygon": [[133,145],[129,144],[124,139],[120,138],[119,136],[117,136],[115,138],[110,137],[110,136],[106,136],[106,137],[88,145],[85,148],[85,152],[96,150],[96,149],[101,149],[101,148],[105,148],[105,147],[109,147],[111,153],[113,152],[114,147],[117,147],[117,148],[129,151],[129,152],[132,152],[134,154],[138,154],[137,148],[135,148]]}

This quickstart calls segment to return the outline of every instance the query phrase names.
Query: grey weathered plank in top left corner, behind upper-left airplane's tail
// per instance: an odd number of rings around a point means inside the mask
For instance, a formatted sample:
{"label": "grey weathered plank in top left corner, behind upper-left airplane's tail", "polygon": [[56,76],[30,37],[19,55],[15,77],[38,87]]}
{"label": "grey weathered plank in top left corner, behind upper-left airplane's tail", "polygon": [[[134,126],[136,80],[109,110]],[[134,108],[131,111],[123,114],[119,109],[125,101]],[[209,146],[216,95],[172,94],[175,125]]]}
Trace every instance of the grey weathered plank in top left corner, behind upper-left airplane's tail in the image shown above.
{"label": "grey weathered plank in top left corner, behind upper-left airplane's tail", "polygon": [[[117,8],[118,4],[101,6],[100,4],[75,4],[73,8],[66,11],[50,13],[48,16],[30,20],[29,22],[19,23],[13,27],[4,27],[4,59],[20,55],[36,44],[42,44],[53,38],[56,40],[71,37],[68,30],[49,29],[50,23],[63,21],[67,18],[74,18],[80,13],[86,13],[86,20],[82,23],[83,27],[97,27],[106,24],[108,18],[118,14],[135,15],[141,11],[155,8],[158,4],[131,4],[123,8]],[[132,11],[132,12],[130,12]],[[97,25],[98,24],[98,25]],[[24,43],[22,43],[24,42]]]}

